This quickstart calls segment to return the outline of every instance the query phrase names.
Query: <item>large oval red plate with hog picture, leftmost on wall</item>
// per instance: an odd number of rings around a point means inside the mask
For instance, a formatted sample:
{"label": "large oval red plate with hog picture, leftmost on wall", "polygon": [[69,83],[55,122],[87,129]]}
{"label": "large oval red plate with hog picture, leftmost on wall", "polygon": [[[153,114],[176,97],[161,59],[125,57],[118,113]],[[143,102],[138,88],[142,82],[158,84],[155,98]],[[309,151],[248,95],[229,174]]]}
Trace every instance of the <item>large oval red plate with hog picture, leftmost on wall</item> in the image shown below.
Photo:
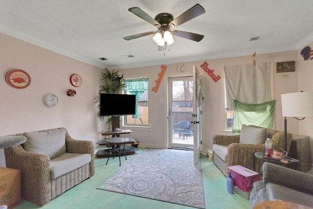
{"label": "large oval red plate with hog picture, leftmost on wall", "polygon": [[30,84],[30,76],[24,70],[10,70],[6,73],[6,82],[13,88],[24,89]]}

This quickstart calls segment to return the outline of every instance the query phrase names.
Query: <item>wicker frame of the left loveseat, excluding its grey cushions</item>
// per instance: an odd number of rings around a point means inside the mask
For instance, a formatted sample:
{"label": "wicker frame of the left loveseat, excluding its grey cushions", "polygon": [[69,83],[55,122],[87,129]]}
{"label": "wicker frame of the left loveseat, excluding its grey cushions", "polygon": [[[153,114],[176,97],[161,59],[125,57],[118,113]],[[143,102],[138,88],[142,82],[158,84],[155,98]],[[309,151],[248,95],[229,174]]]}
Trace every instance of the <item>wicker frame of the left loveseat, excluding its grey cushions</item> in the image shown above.
{"label": "wicker frame of the left loveseat, excluding its grey cushions", "polygon": [[[38,132],[50,130],[56,129]],[[27,152],[23,144],[4,149],[6,167],[21,170],[23,198],[43,206],[94,174],[93,142],[72,139],[66,130],[65,143],[66,153],[90,154],[91,161],[55,179],[51,179],[50,158],[47,155]]]}

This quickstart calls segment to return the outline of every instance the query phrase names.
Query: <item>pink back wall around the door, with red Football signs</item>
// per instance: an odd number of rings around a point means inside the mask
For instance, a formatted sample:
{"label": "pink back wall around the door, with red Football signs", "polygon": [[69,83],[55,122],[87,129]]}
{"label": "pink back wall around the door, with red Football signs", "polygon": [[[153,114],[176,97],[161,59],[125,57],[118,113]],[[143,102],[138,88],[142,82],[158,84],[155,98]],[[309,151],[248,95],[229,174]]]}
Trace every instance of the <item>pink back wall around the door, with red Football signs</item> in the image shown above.
{"label": "pink back wall around the door, with red Football signs", "polygon": [[[251,54],[252,56],[252,54]],[[223,66],[233,66],[233,65],[246,65],[252,64],[251,56],[241,56],[241,57],[231,57],[231,58],[221,58],[221,59],[211,59],[187,63],[175,63],[167,64],[167,70],[163,77],[162,83],[158,89],[158,92],[151,92],[149,102],[152,105],[152,114],[150,115],[152,119],[153,129],[149,131],[137,130],[133,133],[133,138],[138,139],[144,143],[153,144],[154,146],[165,146],[166,140],[164,137],[167,136],[166,133],[166,120],[164,118],[167,116],[166,103],[160,103],[160,99],[166,99],[166,77],[167,76],[179,76],[180,72],[177,72],[177,66],[184,65],[184,73],[192,74],[193,65],[195,65],[198,70],[201,69],[201,65],[207,62],[208,67],[214,70],[216,75],[222,75],[221,67]],[[284,51],[279,53],[267,53],[267,54],[257,54],[256,62],[273,62],[274,63],[274,99],[276,99],[276,111],[274,126],[278,130],[284,130],[284,118],[282,117],[281,110],[281,99],[280,95],[283,93],[291,93],[298,91],[298,70],[289,73],[276,73],[276,62],[284,61],[295,61],[297,59],[297,51]],[[125,76],[135,76],[137,74],[151,73],[153,86],[155,86],[155,80],[158,78],[158,73],[161,71],[159,66],[149,66],[142,68],[133,69],[123,69],[121,70]],[[289,75],[287,78],[283,78],[282,75]],[[212,138],[216,134],[224,134],[222,127],[222,85],[223,81],[220,79],[215,83],[208,74],[204,73],[204,83],[205,83],[205,136],[203,143],[204,148],[212,148]],[[290,121],[289,129],[291,133],[298,132],[298,122]],[[164,137],[163,137],[164,136]]]}

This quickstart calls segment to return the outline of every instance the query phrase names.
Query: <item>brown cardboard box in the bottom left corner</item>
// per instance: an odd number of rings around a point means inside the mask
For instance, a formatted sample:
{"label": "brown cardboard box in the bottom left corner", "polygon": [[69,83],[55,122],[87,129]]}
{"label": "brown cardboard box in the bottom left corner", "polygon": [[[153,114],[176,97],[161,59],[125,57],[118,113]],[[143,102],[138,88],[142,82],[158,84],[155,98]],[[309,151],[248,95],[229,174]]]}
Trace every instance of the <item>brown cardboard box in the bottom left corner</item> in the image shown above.
{"label": "brown cardboard box in the bottom left corner", "polygon": [[21,171],[12,168],[0,167],[0,206],[8,209],[21,203]]}

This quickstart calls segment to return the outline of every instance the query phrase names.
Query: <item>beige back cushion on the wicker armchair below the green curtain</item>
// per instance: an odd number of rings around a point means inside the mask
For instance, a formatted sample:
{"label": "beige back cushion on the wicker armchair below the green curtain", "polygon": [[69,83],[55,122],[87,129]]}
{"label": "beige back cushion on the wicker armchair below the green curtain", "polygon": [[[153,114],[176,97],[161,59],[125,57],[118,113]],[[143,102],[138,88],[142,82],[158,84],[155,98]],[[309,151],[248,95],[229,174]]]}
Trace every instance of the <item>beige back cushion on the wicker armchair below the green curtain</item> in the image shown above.
{"label": "beige back cushion on the wicker armchair below the green curtain", "polygon": [[239,142],[241,144],[263,144],[265,143],[267,130],[264,128],[253,128],[242,125]]}

